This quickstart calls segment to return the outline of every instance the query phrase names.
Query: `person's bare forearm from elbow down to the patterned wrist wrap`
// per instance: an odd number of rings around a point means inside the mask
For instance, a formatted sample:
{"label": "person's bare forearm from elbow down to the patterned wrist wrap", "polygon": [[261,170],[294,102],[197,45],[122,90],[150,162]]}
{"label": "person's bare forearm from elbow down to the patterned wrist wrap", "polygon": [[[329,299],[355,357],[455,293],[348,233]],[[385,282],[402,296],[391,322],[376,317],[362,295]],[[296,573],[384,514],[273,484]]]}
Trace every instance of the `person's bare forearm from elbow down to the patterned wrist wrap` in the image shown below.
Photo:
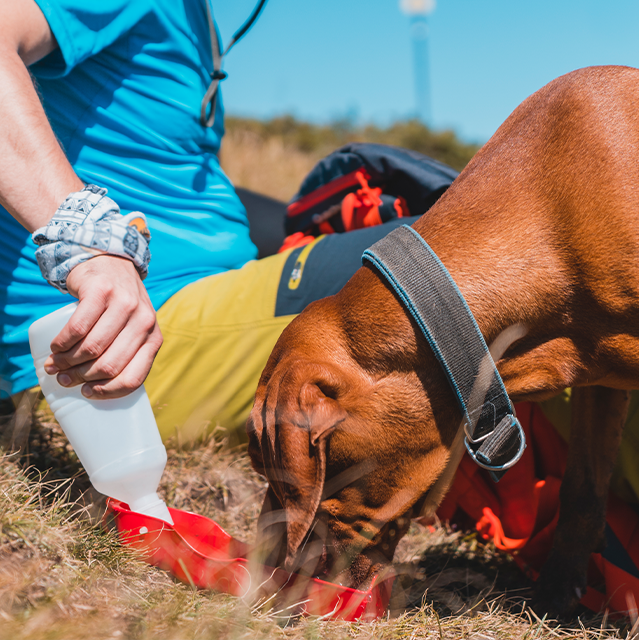
{"label": "person's bare forearm from elbow down to the patterned wrist wrap", "polygon": [[0,43],[0,204],[29,231],[82,189],[18,51]]}

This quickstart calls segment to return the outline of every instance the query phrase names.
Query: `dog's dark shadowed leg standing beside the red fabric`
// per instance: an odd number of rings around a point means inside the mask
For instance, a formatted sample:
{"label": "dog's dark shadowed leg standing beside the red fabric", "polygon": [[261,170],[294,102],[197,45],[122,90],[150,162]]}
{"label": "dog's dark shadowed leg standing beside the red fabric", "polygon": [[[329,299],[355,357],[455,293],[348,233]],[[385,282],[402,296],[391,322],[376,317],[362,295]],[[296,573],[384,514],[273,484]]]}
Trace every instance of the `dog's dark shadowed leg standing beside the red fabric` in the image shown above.
{"label": "dog's dark shadowed leg standing beside the red fabric", "polygon": [[572,392],[566,473],[553,548],[535,585],[540,613],[571,615],[586,589],[588,559],[604,546],[606,503],[630,393],[606,387]]}

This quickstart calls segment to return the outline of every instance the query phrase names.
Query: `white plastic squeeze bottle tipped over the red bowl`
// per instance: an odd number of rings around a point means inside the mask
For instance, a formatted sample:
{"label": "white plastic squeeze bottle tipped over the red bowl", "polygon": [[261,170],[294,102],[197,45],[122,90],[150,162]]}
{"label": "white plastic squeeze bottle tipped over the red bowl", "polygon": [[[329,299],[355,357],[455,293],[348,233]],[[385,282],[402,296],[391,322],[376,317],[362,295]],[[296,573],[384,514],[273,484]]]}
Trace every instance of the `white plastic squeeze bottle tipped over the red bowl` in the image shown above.
{"label": "white plastic squeeze bottle tipped over the red bowl", "polygon": [[132,511],[173,524],[157,494],[166,449],[144,386],[124,398],[90,400],[82,395],[81,385],[63,387],[44,370],[51,341],[77,306],[75,302],[58,309],[29,328],[31,355],[44,397],[100,493],[126,502]]}

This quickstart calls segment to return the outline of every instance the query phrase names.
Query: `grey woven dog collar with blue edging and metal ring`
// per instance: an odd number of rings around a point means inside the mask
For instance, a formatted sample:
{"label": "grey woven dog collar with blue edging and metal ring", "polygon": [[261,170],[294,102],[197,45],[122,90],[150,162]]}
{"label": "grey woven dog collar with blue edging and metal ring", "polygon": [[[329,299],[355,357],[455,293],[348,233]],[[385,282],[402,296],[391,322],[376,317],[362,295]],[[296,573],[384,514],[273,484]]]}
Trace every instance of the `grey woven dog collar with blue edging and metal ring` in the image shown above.
{"label": "grey woven dog collar with blue edging and metal ring", "polygon": [[464,297],[433,250],[403,225],[367,249],[424,334],[462,410],[470,457],[497,482],[526,447],[504,383]]}

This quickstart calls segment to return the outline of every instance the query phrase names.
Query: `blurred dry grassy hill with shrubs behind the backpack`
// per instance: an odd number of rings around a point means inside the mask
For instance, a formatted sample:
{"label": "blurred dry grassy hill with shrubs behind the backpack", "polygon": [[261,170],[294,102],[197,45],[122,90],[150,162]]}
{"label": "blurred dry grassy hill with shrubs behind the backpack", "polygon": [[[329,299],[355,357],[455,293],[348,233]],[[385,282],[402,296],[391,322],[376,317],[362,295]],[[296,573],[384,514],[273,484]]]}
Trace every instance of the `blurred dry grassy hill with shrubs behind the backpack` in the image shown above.
{"label": "blurred dry grassy hill with shrubs behind the backpack", "polygon": [[453,131],[432,131],[418,120],[388,127],[348,120],[311,124],[282,116],[270,120],[226,117],[221,162],[233,184],[288,201],[315,163],[349,142],[377,142],[419,151],[461,171],[479,145]]}

